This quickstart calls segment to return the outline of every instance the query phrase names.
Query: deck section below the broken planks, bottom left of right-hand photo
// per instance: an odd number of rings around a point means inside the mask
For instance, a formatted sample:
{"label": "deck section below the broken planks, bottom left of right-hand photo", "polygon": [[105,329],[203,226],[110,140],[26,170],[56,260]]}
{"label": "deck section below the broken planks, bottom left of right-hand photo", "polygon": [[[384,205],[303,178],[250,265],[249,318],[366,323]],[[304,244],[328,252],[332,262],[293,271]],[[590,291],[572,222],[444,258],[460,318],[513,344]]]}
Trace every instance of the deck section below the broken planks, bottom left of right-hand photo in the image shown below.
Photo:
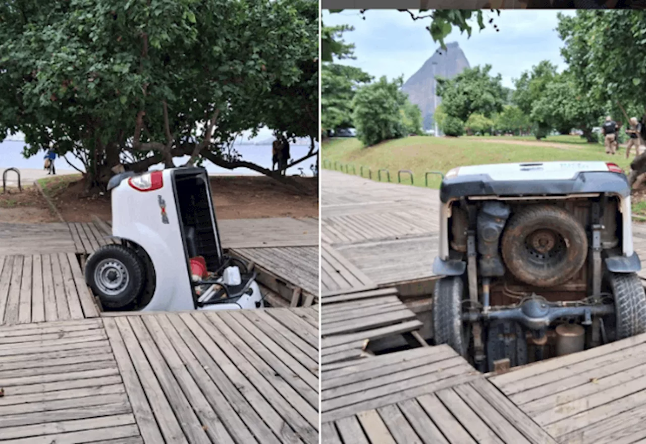
{"label": "deck section below the broken planks, bottom left of right-hand photo", "polygon": [[326,444],[556,444],[447,345],[322,367]]}

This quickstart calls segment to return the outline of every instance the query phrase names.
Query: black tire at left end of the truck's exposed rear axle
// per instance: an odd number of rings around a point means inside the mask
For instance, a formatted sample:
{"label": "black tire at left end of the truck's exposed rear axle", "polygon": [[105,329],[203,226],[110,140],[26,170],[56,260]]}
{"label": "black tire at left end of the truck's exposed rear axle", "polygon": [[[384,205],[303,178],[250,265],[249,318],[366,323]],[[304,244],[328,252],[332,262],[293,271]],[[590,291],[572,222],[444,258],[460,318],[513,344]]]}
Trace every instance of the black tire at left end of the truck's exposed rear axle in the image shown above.
{"label": "black tire at left end of the truck's exposed rear axle", "polygon": [[433,339],[448,344],[466,357],[468,344],[462,336],[462,298],[464,282],[460,277],[443,277],[433,291]]}

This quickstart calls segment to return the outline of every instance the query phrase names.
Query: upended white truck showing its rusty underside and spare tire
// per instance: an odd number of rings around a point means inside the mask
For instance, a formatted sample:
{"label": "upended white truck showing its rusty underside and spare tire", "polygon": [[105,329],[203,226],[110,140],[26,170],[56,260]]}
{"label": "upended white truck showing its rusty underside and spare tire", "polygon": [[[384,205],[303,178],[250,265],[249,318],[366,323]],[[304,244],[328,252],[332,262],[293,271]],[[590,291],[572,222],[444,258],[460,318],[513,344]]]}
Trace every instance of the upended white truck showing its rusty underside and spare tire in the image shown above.
{"label": "upended white truck showing its rusty underside and spare tire", "polygon": [[435,343],[487,372],[646,332],[630,187],[617,165],[459,167],[440,199]]}

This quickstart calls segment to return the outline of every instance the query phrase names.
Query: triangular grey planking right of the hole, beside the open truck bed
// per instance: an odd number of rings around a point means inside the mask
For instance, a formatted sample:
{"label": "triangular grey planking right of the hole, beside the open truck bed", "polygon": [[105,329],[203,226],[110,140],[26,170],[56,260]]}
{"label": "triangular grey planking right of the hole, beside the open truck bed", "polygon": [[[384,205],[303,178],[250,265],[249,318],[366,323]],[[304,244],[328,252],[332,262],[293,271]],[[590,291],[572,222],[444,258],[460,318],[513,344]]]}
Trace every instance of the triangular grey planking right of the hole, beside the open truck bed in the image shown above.
{"label": "triangular grey planking right of the hole, beside the open truck bed", "polygon": [[317,302],[318,247],[234,248],[229,252],[253,261],[258,272],[267,274],[269,279],[301,288],[301,299],[306,305]]}

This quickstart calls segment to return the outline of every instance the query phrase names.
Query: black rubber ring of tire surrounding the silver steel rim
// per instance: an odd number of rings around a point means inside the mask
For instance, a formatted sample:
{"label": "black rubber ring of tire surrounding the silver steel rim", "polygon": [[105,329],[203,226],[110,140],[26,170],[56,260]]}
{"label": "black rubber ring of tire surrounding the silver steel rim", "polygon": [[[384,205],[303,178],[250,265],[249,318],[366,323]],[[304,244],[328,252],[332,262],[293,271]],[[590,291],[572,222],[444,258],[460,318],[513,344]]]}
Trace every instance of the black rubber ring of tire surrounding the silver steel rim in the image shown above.
{"label": "black rubber ring of tire surrounding the silver steel rim", "polygon": [[[117,296],[103,294],[94,282],[94,269],[103,259],[114,257],[119,259],[128,270],[130,281]],[[87,259],[85,263],[85,282],[92,292],[101,300],[101,305],[107,308],[123,308],[129,305],[141,294],[145,283],[145,267],[137,253],[124,245],[102,245]]]}

